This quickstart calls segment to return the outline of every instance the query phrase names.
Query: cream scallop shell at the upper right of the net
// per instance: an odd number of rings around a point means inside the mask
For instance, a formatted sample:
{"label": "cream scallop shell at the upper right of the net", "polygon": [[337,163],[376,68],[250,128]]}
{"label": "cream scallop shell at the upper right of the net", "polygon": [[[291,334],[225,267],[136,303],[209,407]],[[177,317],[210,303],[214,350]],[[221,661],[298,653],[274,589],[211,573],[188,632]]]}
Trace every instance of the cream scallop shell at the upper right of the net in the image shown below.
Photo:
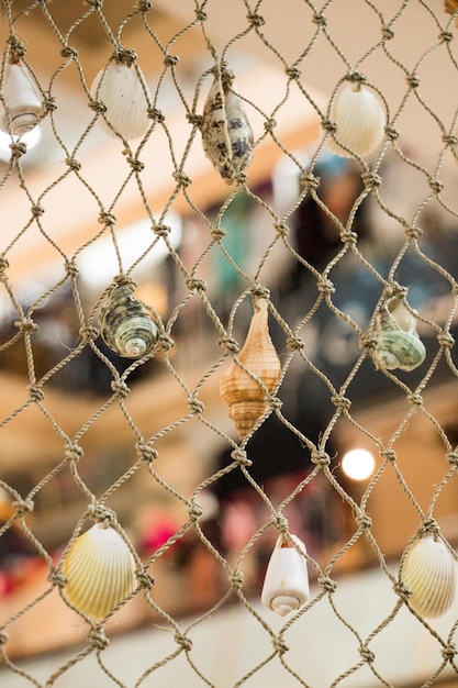
{"label": "cream scallop shell at the upper right of the net", "polygon": [[336,131],[335,140],[329,136],[326,146],[337,155],[369,155],[383,138],[384,108],[376,93],[360,82],[345,84],[340,88],[331,106],[329,119],[336,124]]}

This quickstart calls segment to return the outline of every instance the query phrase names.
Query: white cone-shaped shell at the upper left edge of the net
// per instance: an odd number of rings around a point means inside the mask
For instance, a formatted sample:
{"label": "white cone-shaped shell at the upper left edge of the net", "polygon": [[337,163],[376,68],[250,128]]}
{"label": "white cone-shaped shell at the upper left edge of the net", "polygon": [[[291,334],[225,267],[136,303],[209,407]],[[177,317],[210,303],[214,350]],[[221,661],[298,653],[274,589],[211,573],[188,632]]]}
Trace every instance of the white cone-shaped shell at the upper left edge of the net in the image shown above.
{"label": "white cone-shaped shell at the upper left edge of the net", "polygon": [[27,67],[9,62],[4,69],[0,130],[13,136],[30,132],[46,113],[42,95]]}

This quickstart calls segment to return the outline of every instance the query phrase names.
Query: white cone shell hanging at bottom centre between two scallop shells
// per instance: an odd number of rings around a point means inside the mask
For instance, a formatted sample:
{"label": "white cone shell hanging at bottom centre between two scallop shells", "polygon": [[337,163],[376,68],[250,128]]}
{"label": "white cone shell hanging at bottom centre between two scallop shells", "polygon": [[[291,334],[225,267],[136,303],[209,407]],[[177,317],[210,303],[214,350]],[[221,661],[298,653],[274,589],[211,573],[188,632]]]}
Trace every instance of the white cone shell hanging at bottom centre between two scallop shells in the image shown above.
{"label": "white cone shell hanging at bottom centre between two scallop shells", "polygon": [[[291,539],[305,552],[304,543],[297,535]],[[267,609],[286,617],[305,604],[309,597],[306,559],[291,542],[279,535],[267,565],[261,602]]]}

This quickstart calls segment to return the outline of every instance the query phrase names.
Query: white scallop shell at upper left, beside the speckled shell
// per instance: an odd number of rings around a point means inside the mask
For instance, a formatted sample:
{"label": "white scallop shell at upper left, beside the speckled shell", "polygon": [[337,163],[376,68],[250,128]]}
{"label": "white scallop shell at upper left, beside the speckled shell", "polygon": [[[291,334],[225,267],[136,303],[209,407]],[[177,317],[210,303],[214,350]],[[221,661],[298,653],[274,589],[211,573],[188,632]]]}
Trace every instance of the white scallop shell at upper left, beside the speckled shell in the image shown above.
{"label": "white scallop shell at upper left, beside the speckled shell", "polygon": [[123,63],[110,63],[99,71],[90,88],[91,98],[107,108],[105,118],[114,132],[109,126],[107,131],[112,135],[119,133],[127,141],[144,136],[150,124],[145,95],[148,87],[142,70],[137,69],[138,73]]}

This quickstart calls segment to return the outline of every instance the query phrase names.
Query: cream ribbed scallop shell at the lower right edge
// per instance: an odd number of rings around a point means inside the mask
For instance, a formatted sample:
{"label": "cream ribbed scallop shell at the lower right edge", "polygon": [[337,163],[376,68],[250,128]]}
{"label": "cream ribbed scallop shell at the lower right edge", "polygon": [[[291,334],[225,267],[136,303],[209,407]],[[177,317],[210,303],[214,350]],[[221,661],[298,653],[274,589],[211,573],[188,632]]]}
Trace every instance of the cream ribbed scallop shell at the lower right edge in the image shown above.
{"label": "cream ribbed scallop shell at the lower right edge", "polygon": [[425,535],[413,543],[400,578],[412,590],[409,603],[418,614],[436,619],[450,609],[456,590],[456,564],[439,537]]}

